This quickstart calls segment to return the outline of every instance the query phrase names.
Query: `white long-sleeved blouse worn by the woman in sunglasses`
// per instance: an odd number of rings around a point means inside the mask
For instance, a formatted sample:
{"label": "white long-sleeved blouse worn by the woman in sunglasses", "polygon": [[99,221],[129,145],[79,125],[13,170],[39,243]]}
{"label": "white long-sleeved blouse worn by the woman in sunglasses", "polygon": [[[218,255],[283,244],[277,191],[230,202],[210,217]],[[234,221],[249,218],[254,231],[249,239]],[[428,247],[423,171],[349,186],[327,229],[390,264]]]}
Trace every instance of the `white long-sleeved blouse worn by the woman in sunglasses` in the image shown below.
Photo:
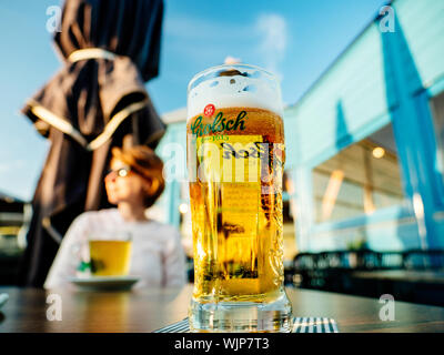
{"label": "white long-sleeved blouse worn by the woman in sunglasses", "polygon": [[141,280],[134,287],[181,286],[186,282],[185,254],[180,233],[171,225],[155,221],[125,222],[118,209],[85,212],[69,227],[52,263],[44,288],[68,286],[78,275],[81,261],[89,261],[89,239],[131,235],[130,275]]}

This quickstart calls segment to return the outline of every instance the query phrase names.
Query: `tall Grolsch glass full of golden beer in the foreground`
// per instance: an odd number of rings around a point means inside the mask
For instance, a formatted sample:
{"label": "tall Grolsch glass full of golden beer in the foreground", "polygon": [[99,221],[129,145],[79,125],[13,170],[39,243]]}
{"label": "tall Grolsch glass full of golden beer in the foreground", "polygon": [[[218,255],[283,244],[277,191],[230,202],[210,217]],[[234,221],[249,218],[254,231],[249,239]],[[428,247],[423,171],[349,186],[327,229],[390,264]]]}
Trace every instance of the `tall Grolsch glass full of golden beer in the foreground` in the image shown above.
{"label": "tall Grolsch glass full of golden beer in the foreground", "polygon": [[246,64],[196,74],[188,88],[194,332],[290,332],[283,288],[278,80]]}

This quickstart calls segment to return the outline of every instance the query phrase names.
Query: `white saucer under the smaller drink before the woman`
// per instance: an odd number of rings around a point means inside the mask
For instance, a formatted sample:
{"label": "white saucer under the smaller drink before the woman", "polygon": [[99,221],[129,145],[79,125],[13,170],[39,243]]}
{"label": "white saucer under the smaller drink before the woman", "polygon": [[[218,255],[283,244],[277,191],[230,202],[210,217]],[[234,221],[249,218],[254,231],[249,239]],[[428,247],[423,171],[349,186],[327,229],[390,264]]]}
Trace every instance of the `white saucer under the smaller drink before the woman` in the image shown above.
{"label": "white saucer under the smaller drink before the woman", "polygon": [[70,282],[91,291],[124,291],[130,290],[139,280],[138,276],[90,276],[71,277]]}

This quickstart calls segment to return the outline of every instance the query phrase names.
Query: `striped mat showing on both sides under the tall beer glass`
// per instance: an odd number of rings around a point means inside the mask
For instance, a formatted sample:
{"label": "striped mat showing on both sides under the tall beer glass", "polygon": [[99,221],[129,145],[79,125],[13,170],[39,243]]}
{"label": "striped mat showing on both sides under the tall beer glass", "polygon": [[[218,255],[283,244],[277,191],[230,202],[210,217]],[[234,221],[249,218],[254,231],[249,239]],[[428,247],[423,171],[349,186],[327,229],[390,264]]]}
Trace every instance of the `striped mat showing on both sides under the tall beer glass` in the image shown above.
{"label": "striped mat showing on both sides under the tall beer glass", "polygon": [[[188,317],[168,325],[153,333],[189,333]],[[292,333],[339,333],[337,324],[333,318],[324,317],[294,317]]]}

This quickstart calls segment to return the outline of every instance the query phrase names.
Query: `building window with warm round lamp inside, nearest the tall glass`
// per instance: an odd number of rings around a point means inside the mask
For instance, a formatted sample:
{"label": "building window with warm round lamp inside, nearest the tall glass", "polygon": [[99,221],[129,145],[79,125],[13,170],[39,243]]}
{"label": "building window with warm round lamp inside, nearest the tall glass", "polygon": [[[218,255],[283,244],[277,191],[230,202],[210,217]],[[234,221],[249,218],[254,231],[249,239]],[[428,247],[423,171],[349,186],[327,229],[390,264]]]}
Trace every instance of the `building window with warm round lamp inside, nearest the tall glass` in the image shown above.
{"label": "building window with warm round lamp inside, nearest the tall glass", "polygon": [[392,125],[342,150],[313,170],[315,222],[333,222],[403,202]]}

